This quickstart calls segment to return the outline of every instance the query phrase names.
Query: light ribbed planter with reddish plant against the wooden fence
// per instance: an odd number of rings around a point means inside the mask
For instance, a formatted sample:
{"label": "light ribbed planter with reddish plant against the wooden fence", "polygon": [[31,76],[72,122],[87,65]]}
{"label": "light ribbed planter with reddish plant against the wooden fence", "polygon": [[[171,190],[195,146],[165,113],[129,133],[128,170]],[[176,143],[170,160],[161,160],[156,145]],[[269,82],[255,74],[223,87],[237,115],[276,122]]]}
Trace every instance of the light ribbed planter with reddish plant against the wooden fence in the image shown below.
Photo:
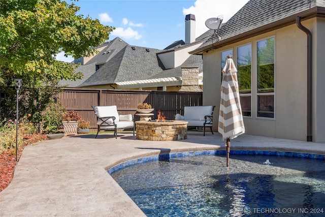
{"label": "light ribbed planter with reddish plant against the wooden fence", "polygon": [[62,114],[64,135],[78,134],[78,121],[81,116],[75,110],[68,110]]}

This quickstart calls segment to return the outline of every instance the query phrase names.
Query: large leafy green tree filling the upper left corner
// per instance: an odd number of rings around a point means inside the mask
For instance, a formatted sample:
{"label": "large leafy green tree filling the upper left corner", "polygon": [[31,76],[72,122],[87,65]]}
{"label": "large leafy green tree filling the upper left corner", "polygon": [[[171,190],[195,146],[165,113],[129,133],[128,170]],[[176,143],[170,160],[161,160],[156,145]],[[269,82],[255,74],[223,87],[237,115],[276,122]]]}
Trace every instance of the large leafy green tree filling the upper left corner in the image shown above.
{"label": "large leafy green tree filling the upper left corner", "polygon": [[26,114],[45,108],[46,99],[57,93],[57,88],[50,90],[59,80],[82,77],[75,73],[75,65],[56,60],[56,54],[64,51],[74,58],[92,55],[115,27],[76,15],[79,9],[60,0],[0,1],[0,116],[15,110],[11,108],[15,78],[22,79],[22,98],[29,101],[22,102],[28,105],[23,107]]}

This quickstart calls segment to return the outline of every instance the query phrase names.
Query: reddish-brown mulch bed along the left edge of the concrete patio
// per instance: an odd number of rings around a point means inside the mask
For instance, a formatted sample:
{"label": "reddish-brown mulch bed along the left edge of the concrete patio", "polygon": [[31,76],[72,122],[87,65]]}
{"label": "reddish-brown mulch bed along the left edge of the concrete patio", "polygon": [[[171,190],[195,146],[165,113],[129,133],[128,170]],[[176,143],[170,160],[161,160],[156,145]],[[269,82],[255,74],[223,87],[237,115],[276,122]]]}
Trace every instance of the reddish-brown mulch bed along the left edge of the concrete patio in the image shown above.
{"label": "reddish-brown mulch bed along the left edge of the concrete patio", "polygon": [[[19,148],[17,151],[17,160],[21,156],[21,152],[24,147],[28,144],[35,143],[41,140],[47,139],[46,135],[31,134],[24,136],[25,143],[23,147]],[[13,176],[14,170],[17,165],[16,152],[13,150],[6,150],[0,154],[0,192],[7,188],[10,184]]]}

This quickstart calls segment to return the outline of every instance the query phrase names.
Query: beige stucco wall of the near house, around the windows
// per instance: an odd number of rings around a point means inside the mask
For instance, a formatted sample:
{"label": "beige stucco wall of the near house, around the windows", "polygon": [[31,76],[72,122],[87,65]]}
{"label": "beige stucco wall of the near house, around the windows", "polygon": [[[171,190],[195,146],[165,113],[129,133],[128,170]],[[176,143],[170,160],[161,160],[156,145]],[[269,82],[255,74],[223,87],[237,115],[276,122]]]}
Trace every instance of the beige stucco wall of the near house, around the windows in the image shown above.
{"label": "beige stucco wall of the near house, around the windows", "polygon": [[[319,19],[319,18],[318,18]],[[315,20],[302,22],[313,34],[313,45],[318,37],[318,48],[313,51],[313,65],[325,69],[324,50],[325,44],[320,37],[325,35],[325,23],[322,19],[315,24]],[[317,28],[316,28],[317,27]],[[318,29],[318,32],[316,31]],[[321,30],[320,30],[321,29]],[[268,37],[275,37],[275,118],[256,118],[256,41]],[[246,133],[251,135],[295,139],[306,141],[307,138],[307,36],[296,24],[286,26],[261,36],[252,37],[239,43],[222,47],[203,54],[203,104],[216,105],[214,112],[213,130],[217,131],[218,111],[220,104],[220,52],[233,49],[235,64],[237,47],[252,44],[252,117],[244,117]],[[315,57],[318,57],[316,59]],[[254,67],[255,66],[255,67]],[[318,102],[314,100],[313,109],[313,141],[323,142],[325,118],[320,109],[325,107],[324,94],[325,79],[324,70],[314,69],[314,94]],[[315,81],[317,77],[317,81]],[[318,85],[317,85],[318,84]],[[315,98],[314,96],[314,98]],[[317,112],[318,111],[318,112]],[[316,118],[317,115],[317,118]],[[315,121],[319,119],[319,121]],[[317,130],[315,130],[317,129]],[[316,136],[316,133],[318,136]],[[321,134],[321,136],[319,135]]]}

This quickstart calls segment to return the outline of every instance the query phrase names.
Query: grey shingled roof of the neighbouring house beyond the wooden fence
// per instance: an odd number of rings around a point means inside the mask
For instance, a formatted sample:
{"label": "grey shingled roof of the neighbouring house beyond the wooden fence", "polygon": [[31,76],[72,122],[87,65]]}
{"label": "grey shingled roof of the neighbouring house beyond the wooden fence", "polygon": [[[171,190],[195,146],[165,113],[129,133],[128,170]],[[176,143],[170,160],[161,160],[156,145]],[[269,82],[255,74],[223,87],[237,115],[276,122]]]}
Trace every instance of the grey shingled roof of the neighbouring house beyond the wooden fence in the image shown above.
{"label": "grey shingled roof of the neighbouring house beyond the wooden fence", "polygon": [[[201,38],[200,38],[201,37]],[[202,41],[202,37],[197,38]],[[204,39],[204,37],[203,37]],[[129,84],[141,82],[160,82],[163,80],[181,80],[182,67],[198,67],[203,69],[203,60],[200,56],[190,55],[181,66],[166,69],[159,59],[158,53],[168,50],[182,49],[183,41],[176,41],[164,50],[132,46],[115,38],[97,47],[101,50],[92,57],[85,65],[79,66],[75,71],[82,72],[84,78],[77,81],[60,81],[60,85],[69,87],[87,87],[112,84]],[[193,43],[193,44],[194,44]],[[96,71],[96,65],[102,65]]]}

